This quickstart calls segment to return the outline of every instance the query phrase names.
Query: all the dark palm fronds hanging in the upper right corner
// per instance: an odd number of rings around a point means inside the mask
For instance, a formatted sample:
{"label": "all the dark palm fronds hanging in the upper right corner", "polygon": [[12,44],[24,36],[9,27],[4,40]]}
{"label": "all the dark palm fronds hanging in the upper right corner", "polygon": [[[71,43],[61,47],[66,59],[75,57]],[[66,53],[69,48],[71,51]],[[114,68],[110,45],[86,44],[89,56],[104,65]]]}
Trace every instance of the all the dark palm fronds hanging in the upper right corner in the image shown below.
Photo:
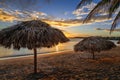
{"label": "all the dark palm fronds hanging in the upper right corner", "polygon": [[[79,4],[77,5],[77,9],[81,8],[82,6],[86,4],[92,3],[94,0],[81,0]],[[96,14],[100,13],[101,10],[104,10],[104,12],[108,13],[108,18],[111,18],[114,13],[117,13],[112,26],[111,31],[113,31],[116,26],[118,25],[120,21],[120,0],[101,0],[98,2],[98,4],[90,11],[90,13],[87,15],[87,17],[84,19],[83,23],[88,22],[91,20]]]}

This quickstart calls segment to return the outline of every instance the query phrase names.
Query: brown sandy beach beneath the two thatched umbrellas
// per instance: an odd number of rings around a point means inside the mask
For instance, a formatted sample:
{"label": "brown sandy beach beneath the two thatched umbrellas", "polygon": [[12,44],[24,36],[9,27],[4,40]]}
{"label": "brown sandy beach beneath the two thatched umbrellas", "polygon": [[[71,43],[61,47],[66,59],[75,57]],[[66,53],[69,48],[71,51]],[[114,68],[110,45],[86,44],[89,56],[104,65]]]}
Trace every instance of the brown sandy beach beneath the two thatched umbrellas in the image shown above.
{"label": "brown sandy beach beneath the two thatched umbrellas", "polygon": [[0,60],[0,80],[120,80],[120,47],[96,53],[73,51],[38,55],[38,74],[33,56]]}

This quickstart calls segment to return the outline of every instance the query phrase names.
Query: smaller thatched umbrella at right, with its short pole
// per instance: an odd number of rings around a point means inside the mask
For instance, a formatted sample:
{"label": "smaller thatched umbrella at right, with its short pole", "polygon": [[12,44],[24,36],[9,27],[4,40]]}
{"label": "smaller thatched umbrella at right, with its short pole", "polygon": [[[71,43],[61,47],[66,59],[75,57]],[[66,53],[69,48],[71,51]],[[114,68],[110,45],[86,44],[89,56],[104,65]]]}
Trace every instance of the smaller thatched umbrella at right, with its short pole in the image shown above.
{"label": "smaller thatched umbrella at right, with its short pole", "polygon": [[116,45],[108,40],[104,40],[102,37],[87,37],[82,41],[77,43],[74,46],[74,50],[78,51],[86,51],[93,54],[93,59],[95,59],[94,52],[100,52],[104,50],[110,50]]}

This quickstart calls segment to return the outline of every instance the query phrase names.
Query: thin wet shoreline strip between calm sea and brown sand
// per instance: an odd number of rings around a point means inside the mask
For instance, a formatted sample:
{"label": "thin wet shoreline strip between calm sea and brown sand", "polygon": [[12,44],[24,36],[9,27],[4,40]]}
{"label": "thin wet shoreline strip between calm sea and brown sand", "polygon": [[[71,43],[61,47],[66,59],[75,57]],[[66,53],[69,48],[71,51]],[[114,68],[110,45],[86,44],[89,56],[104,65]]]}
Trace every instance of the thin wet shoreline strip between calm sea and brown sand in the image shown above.
{"label": "thin wet shoreline strip between calm sea and brown sand", "polygon": [[[53,52],[45,52],[45,53],[37,53],[37,55],[51,55],[55,53],[63,53],[63,52],[68,52],[68,51],[73,51],[73,50],[62,50],[62,51],[53,51]],[[1,60],[8,60],[8,59],[17,59],[17,58],[25,58],[25,57],[31,57],[33,54],[25,54],[25,55],[13,55],[13,56],[5,56],[5,57],[0,57]]]}

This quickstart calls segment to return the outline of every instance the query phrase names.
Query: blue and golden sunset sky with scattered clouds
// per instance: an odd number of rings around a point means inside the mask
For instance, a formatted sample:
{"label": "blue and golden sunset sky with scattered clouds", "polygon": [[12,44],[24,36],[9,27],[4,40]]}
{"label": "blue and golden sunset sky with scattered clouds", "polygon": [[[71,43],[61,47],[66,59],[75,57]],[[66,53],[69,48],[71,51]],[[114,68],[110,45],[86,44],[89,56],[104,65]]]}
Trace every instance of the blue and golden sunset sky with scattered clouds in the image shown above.
{"label": "blue and golden sunset sky with scattered clouds", "polygon": [[80,0],[0,0],[0,29],[10,27],[18,21],[39,18],[52,27],[61,29],[67,37],[119,36],[120,25],[110,35],[109,29],[114,19],[105,13],[83,24],[83,19],[100,1],[94,0],[76,9]]}

